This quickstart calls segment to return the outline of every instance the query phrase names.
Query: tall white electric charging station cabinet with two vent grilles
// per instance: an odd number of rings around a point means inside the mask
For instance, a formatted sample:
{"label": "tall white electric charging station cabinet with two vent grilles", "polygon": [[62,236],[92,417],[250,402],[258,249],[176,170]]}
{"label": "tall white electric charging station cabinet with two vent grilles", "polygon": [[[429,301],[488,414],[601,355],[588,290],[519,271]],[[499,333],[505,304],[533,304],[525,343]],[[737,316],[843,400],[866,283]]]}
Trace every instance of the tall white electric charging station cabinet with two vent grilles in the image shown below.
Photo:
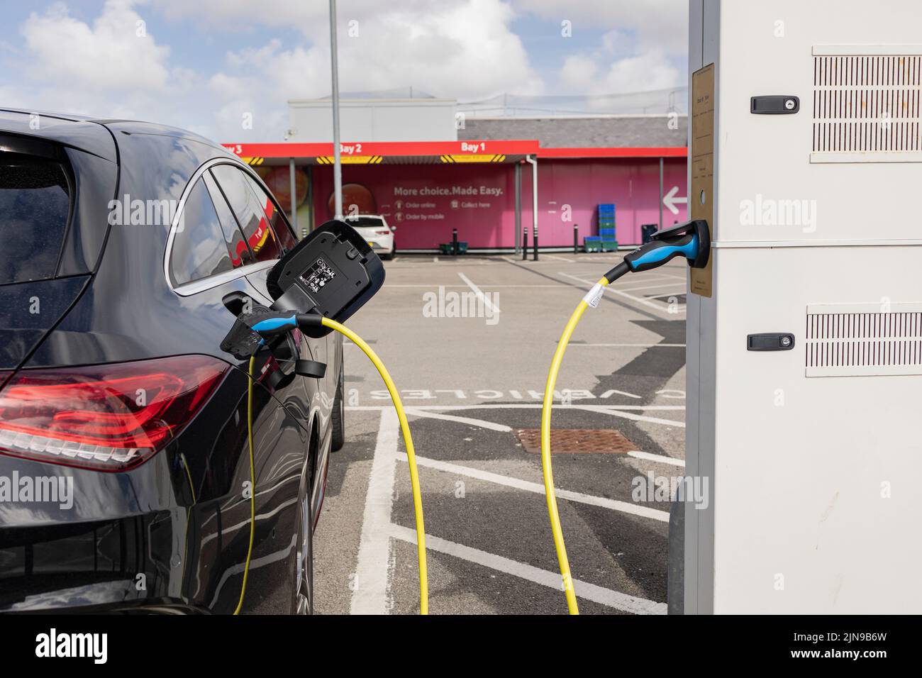
{"label": "tall white electric charging station cabinet with two vent grilles", "polygon": [[690,7],[683,612],[917,612],[918,3]]}

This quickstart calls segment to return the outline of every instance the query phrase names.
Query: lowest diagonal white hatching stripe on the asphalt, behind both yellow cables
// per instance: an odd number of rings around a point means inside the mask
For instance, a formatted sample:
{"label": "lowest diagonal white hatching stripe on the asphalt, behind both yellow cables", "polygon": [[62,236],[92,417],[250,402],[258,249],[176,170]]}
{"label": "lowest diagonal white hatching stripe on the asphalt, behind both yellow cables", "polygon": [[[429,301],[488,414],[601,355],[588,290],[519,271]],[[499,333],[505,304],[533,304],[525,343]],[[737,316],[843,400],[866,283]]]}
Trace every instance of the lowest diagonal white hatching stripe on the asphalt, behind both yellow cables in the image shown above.
{"label": "lowest diagonal white hatching stripe on the asphalt, behind both yellow cables", "polygon": [[[407,541],[411,544],[416,543],[416,532],[414,530],[393,524],[390,529],[391,536],[395,539]],[[433,537],[430,534],[426,535],[426,548],[429,551],[445,553],[455,558],[466,560],[468,563],[476,563],[497,572],[504,572],[513,577],[526,579],[550,589],[561,589],[560,574],[542,570],[540,567],[533,565],[526,565],[526,563],[520,563],[511,558],[504,558],[502,555],[480,551],[464,544],[455,543],[455,541]],[[644,598],[629,596],[626,593],[589,584],[580,579],[573,579],[573,589],[576,595],[585,601],[597,602],[615,610],[621,610],[621,612],[634,614],[666,614],[667,612],[665,602],[647,601]]]}

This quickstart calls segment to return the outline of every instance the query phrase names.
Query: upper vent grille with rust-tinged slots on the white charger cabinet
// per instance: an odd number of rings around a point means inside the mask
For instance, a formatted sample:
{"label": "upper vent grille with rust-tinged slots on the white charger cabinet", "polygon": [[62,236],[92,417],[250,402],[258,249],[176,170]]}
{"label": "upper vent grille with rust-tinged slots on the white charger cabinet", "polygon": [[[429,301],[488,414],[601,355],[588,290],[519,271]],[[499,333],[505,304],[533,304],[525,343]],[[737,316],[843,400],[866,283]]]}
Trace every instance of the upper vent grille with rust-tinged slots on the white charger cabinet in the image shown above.
{"label": "upper vent grille with rust-tinged slots on the white charger cabinet", "polygon": [[922,55],[814,56],[813,153],[922,160]]}

